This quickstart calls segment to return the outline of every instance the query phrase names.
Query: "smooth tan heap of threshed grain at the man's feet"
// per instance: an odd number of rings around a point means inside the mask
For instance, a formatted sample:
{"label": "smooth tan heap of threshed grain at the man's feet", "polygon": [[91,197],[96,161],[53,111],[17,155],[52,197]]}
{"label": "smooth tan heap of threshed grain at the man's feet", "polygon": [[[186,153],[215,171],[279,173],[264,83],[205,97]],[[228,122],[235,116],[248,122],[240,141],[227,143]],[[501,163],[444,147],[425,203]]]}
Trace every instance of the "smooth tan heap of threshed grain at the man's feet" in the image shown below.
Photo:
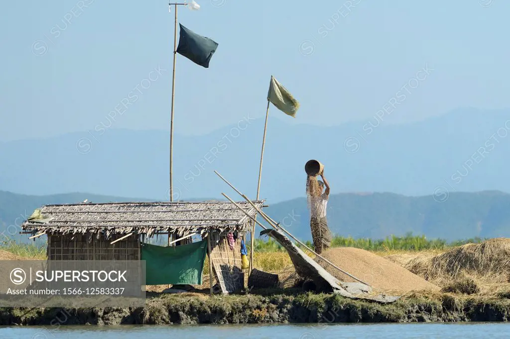
{"label": "smooth tan heap of threshed grain at the man's feet", "polygon": [[[337,247],[328,249],[321,253],[321,256],[381,292],[394,291],[406,293],[411,291],[439,290],[437,286],[409,272],[398,264],[364,249]],[[347,282],[355,281],[320,258],[315,260],[337,279]]]}

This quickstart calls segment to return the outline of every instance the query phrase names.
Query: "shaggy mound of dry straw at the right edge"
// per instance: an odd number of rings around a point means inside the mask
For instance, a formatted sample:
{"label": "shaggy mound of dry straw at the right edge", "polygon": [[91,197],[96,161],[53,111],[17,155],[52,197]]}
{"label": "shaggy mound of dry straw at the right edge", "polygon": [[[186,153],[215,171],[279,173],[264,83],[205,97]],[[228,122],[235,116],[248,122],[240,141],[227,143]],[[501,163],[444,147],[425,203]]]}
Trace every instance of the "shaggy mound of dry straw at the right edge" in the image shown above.
{"label": "shaggy mound of dry straw at the right edge", "polygon": [[437,256],[417,256],[404,267],[439,285],[465,275],[483,283],[508,283],[510,239],[490,239],[479,244],[455,247]]}

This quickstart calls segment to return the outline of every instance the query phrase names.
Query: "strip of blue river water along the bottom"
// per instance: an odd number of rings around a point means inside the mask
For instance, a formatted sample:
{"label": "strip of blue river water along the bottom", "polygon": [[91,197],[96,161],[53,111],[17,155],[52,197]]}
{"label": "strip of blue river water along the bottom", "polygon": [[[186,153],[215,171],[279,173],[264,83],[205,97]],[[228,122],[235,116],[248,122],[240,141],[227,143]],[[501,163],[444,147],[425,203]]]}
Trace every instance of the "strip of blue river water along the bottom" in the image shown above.
{"label": "strip of blue river water along the bottom", "polygon": [[13,339],[337,339],[337,338],[508,338],[510,324],[335,324],[335,325],[166,325],[166,326],[23,326],[0,327],[0,338]]}

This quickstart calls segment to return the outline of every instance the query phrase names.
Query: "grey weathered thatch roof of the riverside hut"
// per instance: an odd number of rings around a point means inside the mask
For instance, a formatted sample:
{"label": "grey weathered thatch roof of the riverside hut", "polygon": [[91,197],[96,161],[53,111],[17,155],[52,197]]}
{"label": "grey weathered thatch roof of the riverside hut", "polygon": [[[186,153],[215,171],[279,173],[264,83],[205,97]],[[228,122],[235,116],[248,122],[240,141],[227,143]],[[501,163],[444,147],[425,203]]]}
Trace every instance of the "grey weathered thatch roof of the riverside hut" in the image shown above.
{"label": "grey weathered thatch roof of the riverside hut", "polygon": [[[253,204],[262,208],[264,201]],[[250,216],[256,211],[248,202],[237,203]],[[41,207],[45,223],[27,220],[21,228],[33,234],[146,234],[176,232],[179,235],[211,230],[248,231],[250,219],[230,202],[154,202],[66,204]]]}

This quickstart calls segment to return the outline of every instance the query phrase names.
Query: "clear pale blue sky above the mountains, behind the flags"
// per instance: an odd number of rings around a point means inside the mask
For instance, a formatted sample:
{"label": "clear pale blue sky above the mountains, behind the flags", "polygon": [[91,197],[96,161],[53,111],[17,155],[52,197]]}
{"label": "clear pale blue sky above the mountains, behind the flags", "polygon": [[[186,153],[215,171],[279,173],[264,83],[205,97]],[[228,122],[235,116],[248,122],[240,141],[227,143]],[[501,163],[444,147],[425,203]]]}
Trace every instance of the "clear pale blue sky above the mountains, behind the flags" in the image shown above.
{"label": "clear pale blue sky above the mountains, behind the flags", "polygon": [[[413,88],[386,113],[389,123],[458,107],[510,106],[510,2],[198,3],[198,12],[181,7],[179,22],[219,47],[209,69],[177,55],[176,133],[204,134],[247,113],[262,118],[271,75],[301,103],[296,119],[271,109],[292,124],[368,120],[405,84]],[[100,123],[169,129],[173,13],[167,2],[11,1],[2,12],[0,141]],[[413,82],[427,66],[432,71]],[[158,68],[160,74],[150,73]],[[143,83],[149,76],[157,79]],[[141,84],[148,88],[109,122],[109,112]]]}

